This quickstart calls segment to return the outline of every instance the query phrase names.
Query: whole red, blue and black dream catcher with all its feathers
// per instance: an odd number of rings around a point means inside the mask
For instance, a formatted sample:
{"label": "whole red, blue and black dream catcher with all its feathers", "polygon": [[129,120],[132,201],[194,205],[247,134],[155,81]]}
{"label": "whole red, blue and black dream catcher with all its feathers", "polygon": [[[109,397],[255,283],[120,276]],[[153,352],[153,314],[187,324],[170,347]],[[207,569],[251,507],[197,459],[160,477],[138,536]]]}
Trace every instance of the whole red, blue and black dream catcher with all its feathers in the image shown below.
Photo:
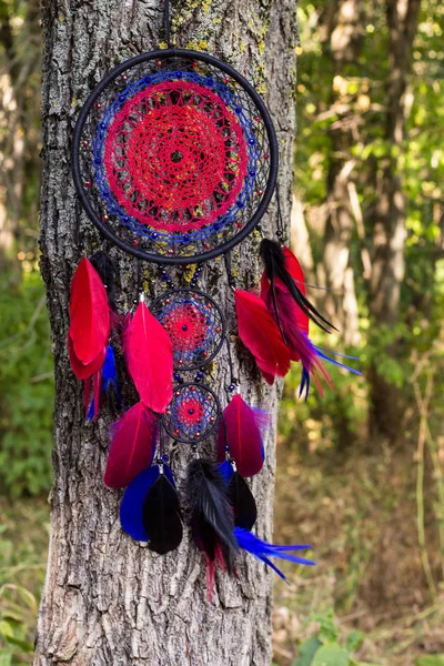
{"label": "whole red, blue and black dream catcher with all its feathers", "polygon": [[[168,3],[165,28],[169,34]],[[295,554],[309,546],[268,544],[252,532],[258,511],[245,478],[263,466],[270,416],[244,402],[221,304],[199,289],[206,262],[221,255],[232,284],[229,253],[256,228],[275,191],[276,137],[262,99],[239,72],[206,53],[143,53],[117,67],[90,94],[75,125],[72,165],[88,216],[139,268],[134,307],[119,313],[109,255],[82,259],[71,285],[68,337],[72,371],[84,382],[87,416],[98,417],[104,392],[113,392],[122,411],[112,426],[104,483],[125,488],[123,529],[168,553],[182,539],[181,506],[188,506],[210,597],[216,564],[233,571],[241,549],[282,577],[272,557],[313,564]],[[331,324],[307,299],[301,266],[281,243],[280,209],[276,235],[261,243],[258,292],[234,290],[238,335],[269,384],[292,361],[301,362],[306,397],[311,380],[320,391],[322,380],[331,385],[323,361],[337,363],[311,343],[309,323],[326,331]],[[141,286],[142,262],[159,265],[155,299]],[[185,286],[178,280],[181,265],[193,266]],[[231,366],[226,405],[209,371],[223,345]],[[139,395],[125,410],[118,355]],[[200,455],[209,440],[213,460]],[[190,456],[186,500],[169,465],[171,442]]]}

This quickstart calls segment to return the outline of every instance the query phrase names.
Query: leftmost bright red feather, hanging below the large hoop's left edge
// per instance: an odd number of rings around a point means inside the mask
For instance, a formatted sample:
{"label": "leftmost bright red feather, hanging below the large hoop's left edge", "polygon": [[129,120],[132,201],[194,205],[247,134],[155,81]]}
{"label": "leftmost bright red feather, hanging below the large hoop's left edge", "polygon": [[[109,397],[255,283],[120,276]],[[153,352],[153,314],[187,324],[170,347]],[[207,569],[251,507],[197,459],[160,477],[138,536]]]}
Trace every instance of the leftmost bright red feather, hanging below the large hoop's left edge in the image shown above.
{"label": "leftmost bright red feather, hanging below the large hoop's left edge", "polygon": [[107,290],[88,259],[82,259],[71,282],[70,317],[69,336],[75,356],[89,365],[107,345],[110,314]]}

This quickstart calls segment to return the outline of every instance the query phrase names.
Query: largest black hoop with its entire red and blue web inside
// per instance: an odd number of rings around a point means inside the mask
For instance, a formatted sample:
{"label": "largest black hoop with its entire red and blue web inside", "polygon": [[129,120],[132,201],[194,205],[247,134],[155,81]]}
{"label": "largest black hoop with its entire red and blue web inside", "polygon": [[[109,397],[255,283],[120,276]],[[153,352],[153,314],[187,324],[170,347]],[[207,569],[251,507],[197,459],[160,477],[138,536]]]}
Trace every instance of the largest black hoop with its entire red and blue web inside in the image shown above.
{"label": "largest black hoop with its entire red and blue web inside", "polygon": [[256,226],[273,194],[269,111],[232,67],[196,51],[142,53],[83,105],[72,142],[80,201],[121,250],[161,264],[206,261]]}

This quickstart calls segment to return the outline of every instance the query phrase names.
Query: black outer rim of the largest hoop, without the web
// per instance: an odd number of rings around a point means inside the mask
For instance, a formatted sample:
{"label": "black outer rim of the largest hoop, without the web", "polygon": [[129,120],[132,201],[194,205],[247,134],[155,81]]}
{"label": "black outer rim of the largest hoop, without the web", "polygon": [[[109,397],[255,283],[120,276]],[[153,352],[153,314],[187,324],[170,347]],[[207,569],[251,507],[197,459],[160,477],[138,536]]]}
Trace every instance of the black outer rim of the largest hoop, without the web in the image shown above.
{"label": "black outer rim of the largest hoop, without the web", "polygon": [[[167,60],[169,58],[183,58],[185,60],[201,60],[203,62],[208,62],[209,64],[212,64],[215,68],[219,68],[220,70],[222,70],[223,72],[229,74],[232,79],[234,79],[234,81],[236,81],[245,90],[245,92],[251,97],[254,104],[259,109],[262,120],[263,120],[263,123],[264,123],[264,127],[265,127],[265,130],[266,130],[269,142],[270,142],[270,175],[269,175],[269,181],[266,183],[266,188],[265,188],[263,198],[258,206],[258,210],[255,211],[255,213],[253,214],[251,220],[245,224],[245,226],[243,229],[241,229],[240,232],[235,236],[233,236],[232,239],[226,241],[226,243],[223,243],[219,248],[214,248],[213,250],[209,250],[208,252],[203,252],[202,254],[194,255],[194,256],[168,256],[168,255],[159,256],[158,254],[153,254],[151,252],[145,252],[144,250],[134,248],[133,245],[130,245],[129,243],[125,243],[125,241],[122,241],[121,239],[119,239],[117,235],[114,235],[114,233],[112,233],[108,229],[108,226],[105,224],[103,224],[102,220],[99,218],[99,215],[93,210],[93,208],[85,194],[81,173],[80,173],[79,149],[80,149],[80,141],[81,141],[83,127],[87,121],[88,113],[90,112],[91,108],[94,105],[97,99],[104,91],[107,85],[109,85],[109,83],[114,81],[114,79],[117,79],[124,71],[127,71],[128,69],[131,69],[132,67],[134,67],[137,64],[140,64],[141,62],[147,62],[149,60]],[[208,53],[201,53],[200,51],[190,51],[188,49],[160,49],[158,51],[150,51],[148,53],[141,53],[140,56],[135,56],[134,58],[131,58],[130,60],[125,60],[121,64],[118,64],[118,67],[115,67],[113,70],[111,70],[111,72],[109,72],[109,74],[107,74],[107,77],[104,79],[102,79],[100,81],[100,83],[94,88],[94,90],[91,92],[91,94],[87,99],[85,103],[83,104],[82,110],[80,111],[79,118],[78,118],[75,127],[74,127],[74,133],[73,133],[73,138],[72,138],[72,147],[71,147],[72,175],[73,175],[75,190],[77,190],[79,199],[83,205],[84,211],[87,212],[90,220],[95,224],[95,226],[98,228],[100,233],[107,240],[109,240],[111,243],[113,243],[114,245],[120,248],[120,250],[123,250],[123,252],[128,252],[129,254],[132,254],[133,256],[137,256],[138,259],[144,260],[144,261],[150,261],[150,262],[158,263],[158,264],[173,264],[173,265],[186,265],[186,264],[195,263],[196,261],[199,261],[199,262],[208,261],[209,259],[214,259],[214,256],[220,256],[221,254],[224,254],[225,252],[229,252],[230,250],[232,250],[238,243],[243,241],[243,239],[245,236],[248,236],[249,233],[251,233],[253,231],[253,229],[256,226],[256,224],[259,223],[261,218],[264,215],[264,213],[269,206],[270,200],[274,192],[274,188],[276,184],[276,176],[278,176],[278,162],[279,162],[278,155],[279,155],[278,139],[276,139],[276,133],[275,133],[275,130],[273,127],[273,121],[271,119],[271,115],[270,115],[262,98],[254,90],[254,88],[251,85],[251,83],[249,83],[249,81],[246,81],[246,79],[244,79],[242,77],[242,74],[240,74],[235,69],[233,69],[232,67],[230,67],[222,60],[219,60],[218,58],[214,58],[213,56],[209,56]]]}

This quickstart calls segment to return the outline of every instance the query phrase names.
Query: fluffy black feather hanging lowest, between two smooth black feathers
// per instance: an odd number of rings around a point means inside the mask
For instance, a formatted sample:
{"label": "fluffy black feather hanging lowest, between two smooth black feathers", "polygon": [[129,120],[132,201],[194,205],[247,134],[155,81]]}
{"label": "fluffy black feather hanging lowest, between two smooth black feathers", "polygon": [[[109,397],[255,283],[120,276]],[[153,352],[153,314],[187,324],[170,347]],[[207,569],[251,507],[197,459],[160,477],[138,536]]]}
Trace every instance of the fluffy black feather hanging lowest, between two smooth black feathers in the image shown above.
{"label": "fluffy black feather hanging lowest, between two smooth black feathers", "polygon": [[193,461],[189,466],[186,491],[191,506],[191,526],[198,547],[210,559],[214,559],[219,541],[230,568],[238,551],[238,542],[233,536],[233,511],[215,465],[201,458]]}

